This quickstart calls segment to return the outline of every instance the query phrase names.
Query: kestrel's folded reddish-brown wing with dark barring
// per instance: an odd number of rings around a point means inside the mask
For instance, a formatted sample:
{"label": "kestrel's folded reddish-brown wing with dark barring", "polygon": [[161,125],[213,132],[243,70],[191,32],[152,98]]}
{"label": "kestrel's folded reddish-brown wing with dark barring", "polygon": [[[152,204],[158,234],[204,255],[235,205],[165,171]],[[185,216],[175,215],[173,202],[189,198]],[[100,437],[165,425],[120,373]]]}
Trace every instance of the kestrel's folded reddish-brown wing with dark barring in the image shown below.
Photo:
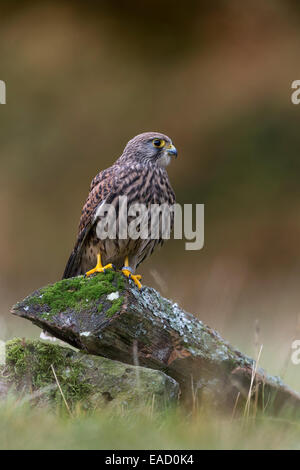
{"label": "kestrel's folded reddish-brown wing with dark barring", "polygon": [[115,192],[115,187],[116,178],[112,167],[101,171],[93,179],[90,193],[81,212],[77,241],[66,264],[63,279],[77,276],[81,272],[82,251],[87,236],[94,225],[94,213],[101,202],[111,198]]}

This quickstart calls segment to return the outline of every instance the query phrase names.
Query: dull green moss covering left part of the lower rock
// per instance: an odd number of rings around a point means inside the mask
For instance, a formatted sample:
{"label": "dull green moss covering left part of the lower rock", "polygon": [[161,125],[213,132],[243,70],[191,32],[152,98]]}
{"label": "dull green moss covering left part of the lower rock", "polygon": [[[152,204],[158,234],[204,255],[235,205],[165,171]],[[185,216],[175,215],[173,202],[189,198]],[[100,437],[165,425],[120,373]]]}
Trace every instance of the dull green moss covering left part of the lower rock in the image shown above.
{"label": "dull green moss covering left part of the lower rock", "polygon": [[80,359],[74,361],[72,358],[71,349],[68,351],[41,341],[14,339],[6,343],[9,378],[21,383],[28,376],[33,392],[43,389],[48,400],[61,404],[62,396],[56,386],[52,365],[69,406],[83,401],[88,403],[92,391],[91,384],[83,380],[84,367]]}

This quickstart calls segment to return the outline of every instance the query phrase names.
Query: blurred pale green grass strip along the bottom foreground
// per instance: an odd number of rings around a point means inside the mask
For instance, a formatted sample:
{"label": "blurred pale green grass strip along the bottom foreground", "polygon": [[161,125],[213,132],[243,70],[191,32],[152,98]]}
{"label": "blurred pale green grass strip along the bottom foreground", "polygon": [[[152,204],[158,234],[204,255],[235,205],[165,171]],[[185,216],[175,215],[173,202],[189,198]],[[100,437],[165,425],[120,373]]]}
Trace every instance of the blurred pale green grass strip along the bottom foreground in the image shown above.
{"label": "blurred pale green grass strip along the bottom foreground", "polygon": [[1,449],[299,449],[300,423],[224,418],[151,407],[73,416],[10,397],[0,404]]}

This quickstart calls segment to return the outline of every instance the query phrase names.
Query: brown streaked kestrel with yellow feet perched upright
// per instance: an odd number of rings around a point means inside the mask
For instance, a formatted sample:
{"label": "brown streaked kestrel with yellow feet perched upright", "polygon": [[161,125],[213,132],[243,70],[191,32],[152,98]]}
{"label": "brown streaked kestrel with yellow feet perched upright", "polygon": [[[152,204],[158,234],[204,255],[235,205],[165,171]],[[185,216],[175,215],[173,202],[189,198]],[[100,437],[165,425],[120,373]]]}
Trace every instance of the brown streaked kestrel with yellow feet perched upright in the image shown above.
{"label": "brown streaked kestrel with yellow feet perched upright", "polygon": [[147,208],[151,204],[173,206],[175,194],[166,166],[176,156],[177,150],[169,137],[158,132],[145,132],[131,139],[118,160],[95,176],[82,209],[77,241],[63,278],[80,274],[89,276],[114,268],[122,270],[141,288],[141,276],[135,274],[135,269],[157,245],[163,243],[161,232],[156,239],[151,238],[151,234],[146,239],[129,236],[121,239],[118,231],[114,239],[101,239],[97,230],[100,223],[98,209],[101,204],[112,204],[118,217],[119,196],[127,196],[128,207],[134,203],[144,204]]}

